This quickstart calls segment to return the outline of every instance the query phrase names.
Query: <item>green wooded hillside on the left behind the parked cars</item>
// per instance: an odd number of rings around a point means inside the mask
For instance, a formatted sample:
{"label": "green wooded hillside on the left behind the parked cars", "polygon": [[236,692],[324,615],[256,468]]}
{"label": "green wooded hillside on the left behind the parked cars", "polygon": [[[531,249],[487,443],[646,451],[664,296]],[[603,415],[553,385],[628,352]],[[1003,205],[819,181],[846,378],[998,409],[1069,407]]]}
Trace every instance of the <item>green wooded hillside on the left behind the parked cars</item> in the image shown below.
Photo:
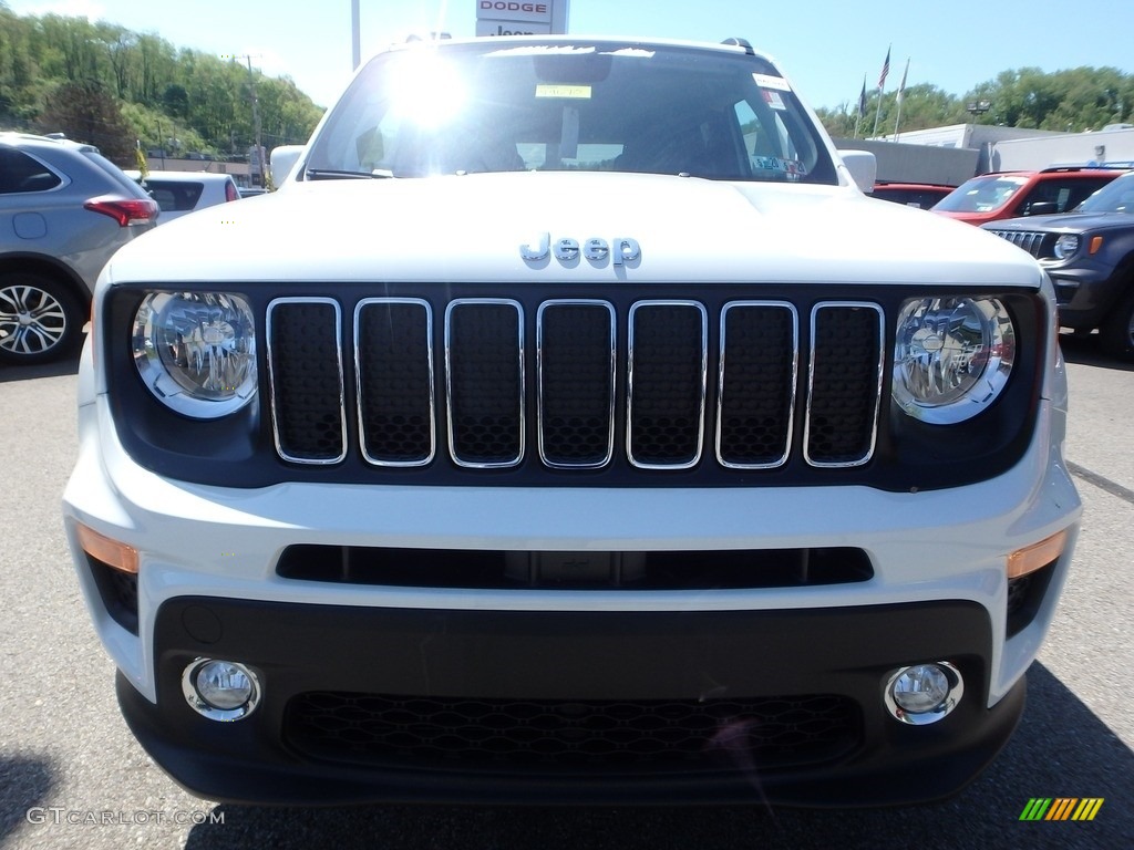
{"label": "green wooded hillside on the left behind the parked cars", "polygon": [[[253,88],[265,147],[307,139],[322,110],[287,77],[268,78],[234,57],[178,50],[117,24],[17,16],[0,2],[0,128],[50,126],[116,161],[137,139],[170,155],[243,156],[256,137]],[[87,114],[76,91],[93,93]]]}

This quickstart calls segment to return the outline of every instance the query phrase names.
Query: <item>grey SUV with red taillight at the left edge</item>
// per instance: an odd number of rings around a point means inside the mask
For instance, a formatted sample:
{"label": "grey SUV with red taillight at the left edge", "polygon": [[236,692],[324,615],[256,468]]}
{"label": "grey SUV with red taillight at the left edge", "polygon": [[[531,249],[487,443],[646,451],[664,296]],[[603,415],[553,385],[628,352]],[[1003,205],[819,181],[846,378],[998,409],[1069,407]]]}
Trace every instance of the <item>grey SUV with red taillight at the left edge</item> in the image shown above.
{"label": "grey SUV with red taillight at the left edge", "polygon": [[93,145],[0,133],[0,363],[75,351],[102,266],[156,219]]}

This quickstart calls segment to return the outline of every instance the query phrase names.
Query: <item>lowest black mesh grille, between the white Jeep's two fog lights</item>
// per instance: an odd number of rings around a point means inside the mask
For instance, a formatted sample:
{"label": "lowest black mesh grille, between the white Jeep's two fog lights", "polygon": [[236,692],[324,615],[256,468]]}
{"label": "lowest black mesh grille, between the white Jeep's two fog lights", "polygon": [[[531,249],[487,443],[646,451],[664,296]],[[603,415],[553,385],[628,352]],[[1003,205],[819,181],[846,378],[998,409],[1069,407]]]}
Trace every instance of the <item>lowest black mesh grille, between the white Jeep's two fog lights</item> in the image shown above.
{"label": "lowest black mesh grille, between the white Jeep's two fog lights", "polygon": [[710,700],[515,700],[301,694],[285,736],[320,759],[486,764],[719,764],[785,767],[838,758],[861,738],[840,696]]}

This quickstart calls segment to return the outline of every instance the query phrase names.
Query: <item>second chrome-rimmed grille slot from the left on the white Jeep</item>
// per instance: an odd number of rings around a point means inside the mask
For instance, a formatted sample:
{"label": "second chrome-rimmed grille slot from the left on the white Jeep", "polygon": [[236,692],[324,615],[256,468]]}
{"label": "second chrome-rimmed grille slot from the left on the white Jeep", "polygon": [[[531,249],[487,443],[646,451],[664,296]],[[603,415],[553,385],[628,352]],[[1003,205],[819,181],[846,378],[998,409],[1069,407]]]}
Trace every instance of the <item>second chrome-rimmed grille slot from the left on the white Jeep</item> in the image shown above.
{"label": "second chrome-rimmed grille slot from the left on the white Jeep", "polygon": [[435,453],[433,315],[418,299],[371,298],[355,311],[355,373],[363,457],[425,466]]}

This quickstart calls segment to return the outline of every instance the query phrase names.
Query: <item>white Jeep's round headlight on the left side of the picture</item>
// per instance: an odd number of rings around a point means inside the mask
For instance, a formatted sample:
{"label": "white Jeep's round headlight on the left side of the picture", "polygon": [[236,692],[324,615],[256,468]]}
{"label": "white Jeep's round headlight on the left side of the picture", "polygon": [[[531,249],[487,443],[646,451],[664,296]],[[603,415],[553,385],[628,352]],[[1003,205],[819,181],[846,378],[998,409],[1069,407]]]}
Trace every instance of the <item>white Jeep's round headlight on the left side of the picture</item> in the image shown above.
{"label": "white Jeep's round headlight on the left side of the picture", "polygon": [[226,416],[255,394],[255,322],[238,295],[152,292],[134,316],[133,346],[150,392],[186,416]]}

